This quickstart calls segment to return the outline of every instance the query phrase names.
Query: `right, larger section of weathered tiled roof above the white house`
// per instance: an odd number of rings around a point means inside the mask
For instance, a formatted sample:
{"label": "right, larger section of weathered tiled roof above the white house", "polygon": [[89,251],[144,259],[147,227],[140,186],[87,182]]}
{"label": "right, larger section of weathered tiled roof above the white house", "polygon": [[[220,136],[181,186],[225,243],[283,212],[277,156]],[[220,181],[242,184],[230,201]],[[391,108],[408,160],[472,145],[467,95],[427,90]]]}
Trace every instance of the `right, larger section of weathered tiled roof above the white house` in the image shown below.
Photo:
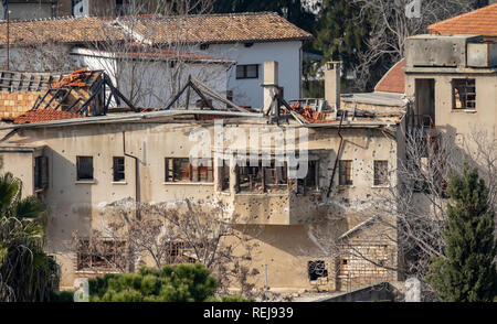
{"label": "right, larger section of weathered tiled roof above the white house", "polygon": [[152,43],[236,43],[310,40],[311,34],[274,12],[119,19]]}

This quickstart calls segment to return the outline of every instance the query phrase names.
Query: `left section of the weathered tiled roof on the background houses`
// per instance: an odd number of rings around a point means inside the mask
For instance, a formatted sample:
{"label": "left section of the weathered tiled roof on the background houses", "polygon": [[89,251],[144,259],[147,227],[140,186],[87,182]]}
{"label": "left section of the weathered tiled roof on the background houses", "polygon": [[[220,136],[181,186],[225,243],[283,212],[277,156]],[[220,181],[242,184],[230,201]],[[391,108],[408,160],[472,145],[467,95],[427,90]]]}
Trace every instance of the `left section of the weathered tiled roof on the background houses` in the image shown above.
{"label": "left section of the weathered tiled roof on the background houses", "polygon": [[[125,33],[98,18],[64,18],[9,23],[10,44],[86,43],[126,40]],[[0,44],[7,44],[7,22],[0,22]]]}

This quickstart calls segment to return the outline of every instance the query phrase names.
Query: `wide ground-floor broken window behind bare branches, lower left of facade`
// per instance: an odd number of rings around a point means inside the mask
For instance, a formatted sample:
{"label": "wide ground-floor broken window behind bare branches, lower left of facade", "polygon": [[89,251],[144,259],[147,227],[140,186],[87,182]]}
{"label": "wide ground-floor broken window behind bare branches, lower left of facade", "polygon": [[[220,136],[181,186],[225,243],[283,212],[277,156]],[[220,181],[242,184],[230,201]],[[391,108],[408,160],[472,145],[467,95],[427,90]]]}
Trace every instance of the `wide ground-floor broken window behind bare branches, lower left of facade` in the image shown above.
{"label": "wide ground-floor broken window behind bare branches, lower left of facade", "polygon": [[82,239],[77,245],[76,269],[125,269],[125,241],[113,239]]}

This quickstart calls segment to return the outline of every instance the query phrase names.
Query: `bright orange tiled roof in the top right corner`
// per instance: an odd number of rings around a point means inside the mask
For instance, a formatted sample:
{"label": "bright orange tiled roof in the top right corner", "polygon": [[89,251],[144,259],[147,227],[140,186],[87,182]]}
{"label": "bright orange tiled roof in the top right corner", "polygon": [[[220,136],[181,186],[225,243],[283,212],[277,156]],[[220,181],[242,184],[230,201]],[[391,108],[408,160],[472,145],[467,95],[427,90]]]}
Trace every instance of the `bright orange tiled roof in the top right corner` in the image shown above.
{"label": "bright orange tiled roof in the top right corner", "polygon": [[497,3],[429,25],[432,34],[497,36]]}

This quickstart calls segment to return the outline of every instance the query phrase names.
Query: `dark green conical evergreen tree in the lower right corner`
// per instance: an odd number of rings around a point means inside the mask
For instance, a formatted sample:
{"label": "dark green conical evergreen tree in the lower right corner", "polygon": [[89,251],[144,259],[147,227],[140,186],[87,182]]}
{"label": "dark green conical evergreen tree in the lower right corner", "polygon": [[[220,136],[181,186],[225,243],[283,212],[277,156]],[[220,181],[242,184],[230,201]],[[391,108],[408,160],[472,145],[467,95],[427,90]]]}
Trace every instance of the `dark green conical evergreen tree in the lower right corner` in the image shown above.
{"label": "dark green conical evergreen tree in the lower right corner", "polygon": [[466,165],[448,183],[445,258],[435,258],[429,282],[442,301],[489,302],[496,296],[494,212],[477,170]]}

